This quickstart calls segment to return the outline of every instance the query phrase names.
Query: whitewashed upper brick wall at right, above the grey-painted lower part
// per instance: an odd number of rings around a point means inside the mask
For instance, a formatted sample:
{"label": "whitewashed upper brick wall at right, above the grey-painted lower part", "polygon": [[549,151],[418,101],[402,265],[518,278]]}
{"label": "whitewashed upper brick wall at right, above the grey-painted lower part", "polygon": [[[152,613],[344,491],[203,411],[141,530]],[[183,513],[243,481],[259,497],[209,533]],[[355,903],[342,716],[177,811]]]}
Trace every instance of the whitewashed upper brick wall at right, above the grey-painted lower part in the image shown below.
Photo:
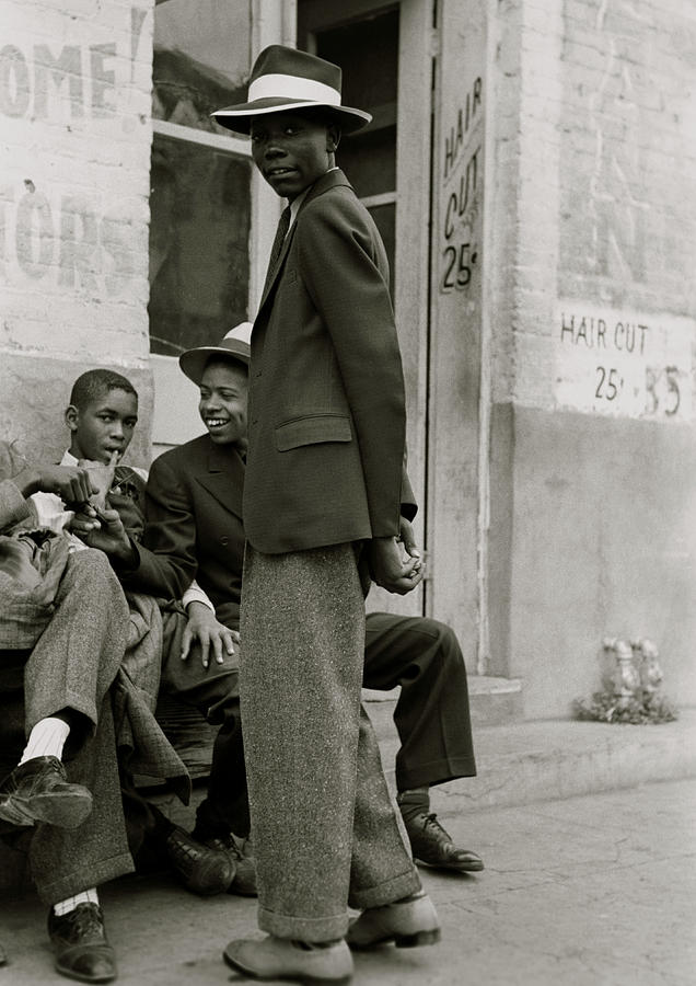
{"label": "whitewashed upper brick wall at right, above the grey-painted lower part", "polygon": [[[510,101],[517,103],[520,126],[503,135],[503,122],[497,123],[502,153],[510,146],[517,151],[514,185],[508,183],[514,198],[515,223],[509,233],[515,255],[503,286],[508,291],[513,286],[513,333],[507,331],[507,320],[500,324],[497,398],[670,423],[674,415],[666,411],[674,401],[666,400],[664,370],[676,363],[674,380],[685,401],[676,419],[691,420],[696,329],[696,286],[689,273],[696,261],[693,13],[684,4],[640,0],[525,0],[506,4],[503,12],[498,27],[503,39],[508,35],[501,57],[512,62],[517,89],[508,85],[499,105],[504,115]],[[611,323],[604,340],[593,345],[581,333],[578,345],[568,330],[561,336],[564,312],[578,317],[578,323],[584,313],[604,317]],[[638,360],[641,354],[633,351],[634,364],[640,362],[633,375],[626,330],[619,329],[618,340],[612,337],[617,321],[648,323],[646,358]],[[659,339],[661,334],[672,339]],[[592,348],[604,359],[582,364],[582,354]],[[512,374],[506,371],[511,353]],[[607,400],[596,365],[608,372],[612,356],[618,359],[617,382],[623,377],[627,391],[640,388],[634,400],[628,392],[610,392]],[[648,369],[662,374],[658,392],[650,379],[646,386]]]}

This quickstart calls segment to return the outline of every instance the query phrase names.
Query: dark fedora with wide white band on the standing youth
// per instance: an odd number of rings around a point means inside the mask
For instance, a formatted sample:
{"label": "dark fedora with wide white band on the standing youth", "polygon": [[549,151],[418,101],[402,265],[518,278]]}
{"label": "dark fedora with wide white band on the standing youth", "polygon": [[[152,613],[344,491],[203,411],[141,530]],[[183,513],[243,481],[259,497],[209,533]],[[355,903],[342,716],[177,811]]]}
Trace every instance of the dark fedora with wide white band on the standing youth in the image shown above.
{"label": "dark fedora with wide white band on the standing youth", "polygon": [[340,105],[341,71],[337,65],[316,55],[269,45],[252,69],[246,103],[216,110],[218,123],[237,134],[248,134],[255,116],[268,113],[324,106],[344,134],[367,126],[372,116],[362,110]]}

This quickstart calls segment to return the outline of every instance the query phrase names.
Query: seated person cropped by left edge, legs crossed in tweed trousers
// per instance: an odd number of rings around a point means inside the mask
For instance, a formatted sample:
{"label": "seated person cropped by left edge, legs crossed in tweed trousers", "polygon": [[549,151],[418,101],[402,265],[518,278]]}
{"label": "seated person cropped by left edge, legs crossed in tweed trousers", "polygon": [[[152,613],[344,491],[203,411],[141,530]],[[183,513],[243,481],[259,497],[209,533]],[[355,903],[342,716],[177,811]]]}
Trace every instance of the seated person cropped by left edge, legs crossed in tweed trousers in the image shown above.
{"label": "seated person cropped by left edge, legs crossed in tweed trousers", "polygon": [[37,530],[37,491],[66,503],[94,492],[86,470],[19,467],[1,444],[0,832],[28,835],[57,971],[108,982],[116,962],[96,886],[134,868],[107,697],[128,607],[102,552]]}

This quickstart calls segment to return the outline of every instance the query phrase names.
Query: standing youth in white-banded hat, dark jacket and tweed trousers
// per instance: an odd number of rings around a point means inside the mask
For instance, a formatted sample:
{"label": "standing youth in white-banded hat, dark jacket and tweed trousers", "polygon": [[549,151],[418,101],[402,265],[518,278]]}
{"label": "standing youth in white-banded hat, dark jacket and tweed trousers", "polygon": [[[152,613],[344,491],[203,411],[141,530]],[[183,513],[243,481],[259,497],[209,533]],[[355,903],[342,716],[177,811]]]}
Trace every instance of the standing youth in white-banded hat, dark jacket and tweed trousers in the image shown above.
{"label": "standing youth in white-banded hat, dark jacket and tweed trousers", "polygon": [[[369,578],[406,593],[399,517],[404,382],[376,228],[341,171],[340,69],[279,45],[248,102],[218,111],[248,133],[288,198],[252,335],[247,549],[240,674],[260,941],[225,960],[259,978],[347,982],[353,947],[439,938],[370,722],[360,708]],[[348,929],[348,905],[362,910]]]}

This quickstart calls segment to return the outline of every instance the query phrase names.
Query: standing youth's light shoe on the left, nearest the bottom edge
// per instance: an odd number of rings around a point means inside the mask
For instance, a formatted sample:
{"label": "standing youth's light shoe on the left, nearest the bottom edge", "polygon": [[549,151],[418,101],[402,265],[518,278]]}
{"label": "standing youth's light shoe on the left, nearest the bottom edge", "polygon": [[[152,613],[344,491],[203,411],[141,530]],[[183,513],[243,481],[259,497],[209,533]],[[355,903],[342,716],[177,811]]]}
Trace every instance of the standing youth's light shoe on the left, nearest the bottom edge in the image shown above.
{"label": "standing youth's light shoe on the left, nearest the bottom edge", "polygon": [[353,972],[350,950],[343,940],[318,945],[269,935],[259,941],[231,941],[222,956],[232,968],[257,979],[336,984],[349,983]]}

